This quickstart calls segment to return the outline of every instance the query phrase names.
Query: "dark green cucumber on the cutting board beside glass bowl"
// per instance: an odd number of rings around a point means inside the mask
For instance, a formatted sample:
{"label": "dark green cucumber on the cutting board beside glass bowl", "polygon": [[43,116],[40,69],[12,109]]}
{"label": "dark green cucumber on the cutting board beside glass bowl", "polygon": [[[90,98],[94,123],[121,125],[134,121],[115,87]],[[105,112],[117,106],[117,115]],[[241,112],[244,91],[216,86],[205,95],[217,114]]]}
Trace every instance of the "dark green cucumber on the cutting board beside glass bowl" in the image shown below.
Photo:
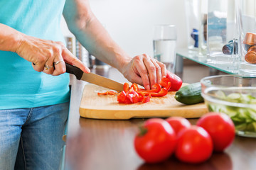
{"label": "dark green cucumber on the cutting board beside glass bowl", "polygon": [[203,97],[201,96],[201,83],[198,82],[181,87],[181,89],[176,92],[174,98],[176,101],[186,105],[203,102]]}

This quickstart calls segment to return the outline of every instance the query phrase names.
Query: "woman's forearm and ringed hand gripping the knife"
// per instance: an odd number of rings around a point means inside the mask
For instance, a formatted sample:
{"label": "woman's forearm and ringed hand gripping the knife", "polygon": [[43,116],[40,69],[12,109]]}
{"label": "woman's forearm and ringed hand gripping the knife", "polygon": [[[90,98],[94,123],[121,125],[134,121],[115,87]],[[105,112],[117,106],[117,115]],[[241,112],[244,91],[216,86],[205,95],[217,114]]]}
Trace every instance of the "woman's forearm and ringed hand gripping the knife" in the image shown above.
{"label": "woman's forearm and ringed hand gripping the knife", "polygon": [[[65,73],[65,63],[54,62],[65,60],[80,67],[83,72],[90,72],[80,60],[63,45],[62,42],[43,40],[25,35],[14,28],[0,23],[0,50],[16,52],[23,59],[33,63],[33,69],[46,74],[59,75]],[[46,68],[48,65],[50,68]]]}

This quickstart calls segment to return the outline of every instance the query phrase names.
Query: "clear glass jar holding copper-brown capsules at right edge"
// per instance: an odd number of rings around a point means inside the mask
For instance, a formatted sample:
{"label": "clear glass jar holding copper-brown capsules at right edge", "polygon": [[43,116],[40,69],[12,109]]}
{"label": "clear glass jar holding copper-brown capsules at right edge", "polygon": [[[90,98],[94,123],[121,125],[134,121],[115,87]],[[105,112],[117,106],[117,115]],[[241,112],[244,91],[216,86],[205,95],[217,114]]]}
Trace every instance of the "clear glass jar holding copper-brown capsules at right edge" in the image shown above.
{"label": "clear glass jar holding copper-brown capsules at right edge", "polygon": [[235,0],[238,27],[239,74],[256,77],[256,1]]}

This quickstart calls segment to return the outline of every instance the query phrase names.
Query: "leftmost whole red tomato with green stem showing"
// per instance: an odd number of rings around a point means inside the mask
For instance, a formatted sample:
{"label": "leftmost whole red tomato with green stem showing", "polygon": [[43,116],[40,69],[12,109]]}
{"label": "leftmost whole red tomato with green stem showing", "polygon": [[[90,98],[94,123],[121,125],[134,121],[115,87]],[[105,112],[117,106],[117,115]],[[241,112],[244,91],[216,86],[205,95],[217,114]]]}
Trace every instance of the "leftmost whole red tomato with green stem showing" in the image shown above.
{"label": "leftmost whole red tomato with green stem showing", "polygon": [[148,163],[162,162],[174,153],[176,134],[166,120],[151,118],[146,120],[141,132],[134,139],[134,147],[139,157]]}

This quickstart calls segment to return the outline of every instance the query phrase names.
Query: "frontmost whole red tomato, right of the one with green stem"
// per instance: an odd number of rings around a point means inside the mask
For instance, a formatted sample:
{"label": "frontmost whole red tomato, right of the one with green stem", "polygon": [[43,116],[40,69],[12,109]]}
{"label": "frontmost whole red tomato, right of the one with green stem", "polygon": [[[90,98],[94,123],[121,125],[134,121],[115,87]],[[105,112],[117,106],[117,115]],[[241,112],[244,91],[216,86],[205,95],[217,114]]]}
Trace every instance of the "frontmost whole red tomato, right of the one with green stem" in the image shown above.
{"label": "frontmost whole red tomato, right of the one with green stem", "polygon": [[175,155],[182,162],[201,163],[210,158],[213,142],[206,130],[192,125],[178,134]]}

